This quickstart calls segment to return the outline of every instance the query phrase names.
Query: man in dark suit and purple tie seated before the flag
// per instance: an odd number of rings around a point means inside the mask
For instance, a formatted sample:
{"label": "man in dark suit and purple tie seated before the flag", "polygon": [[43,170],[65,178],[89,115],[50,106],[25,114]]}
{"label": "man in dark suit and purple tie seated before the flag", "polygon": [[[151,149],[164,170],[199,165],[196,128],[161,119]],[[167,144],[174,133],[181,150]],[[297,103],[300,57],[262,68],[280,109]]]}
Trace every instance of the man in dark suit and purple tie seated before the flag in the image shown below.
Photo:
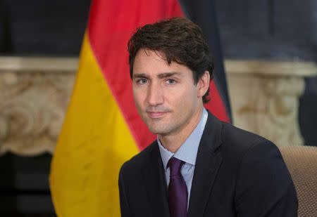
{"label": "man in dark suit and purple tie seated before the flag", "polygon": [[145,25],[128,49],[135,104],[157,140],[120,170],[122,216],[297,216],[278,148],[204,109],[213,63],[197,25]]}

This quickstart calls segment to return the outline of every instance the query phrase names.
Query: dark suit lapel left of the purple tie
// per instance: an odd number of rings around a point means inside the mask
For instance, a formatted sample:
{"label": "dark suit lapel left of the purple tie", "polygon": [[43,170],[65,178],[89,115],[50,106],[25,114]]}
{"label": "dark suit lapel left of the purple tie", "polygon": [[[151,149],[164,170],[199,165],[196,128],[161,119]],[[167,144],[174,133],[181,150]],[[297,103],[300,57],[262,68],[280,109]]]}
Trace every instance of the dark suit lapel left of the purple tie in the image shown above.
{"label": "dark suit lapel left of the purple tie", "polygon": [[[152,144],[152,150],[144,169],[144,180],[149,200],[151,216],[170,216],[168,208],[168,196],[166,178],[156,142]],[[150,215],[149,215],[150,216]]]}

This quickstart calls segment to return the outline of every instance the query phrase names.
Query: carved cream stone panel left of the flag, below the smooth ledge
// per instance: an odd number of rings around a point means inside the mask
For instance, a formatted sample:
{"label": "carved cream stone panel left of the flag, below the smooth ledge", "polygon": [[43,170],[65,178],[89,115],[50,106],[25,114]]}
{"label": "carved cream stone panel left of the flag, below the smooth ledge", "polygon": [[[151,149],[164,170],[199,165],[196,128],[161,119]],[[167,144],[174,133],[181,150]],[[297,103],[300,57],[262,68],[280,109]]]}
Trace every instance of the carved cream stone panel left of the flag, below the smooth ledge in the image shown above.
{"label": "carved cream stone panel left of the flag, below the smooth ledge", "polygon": [[0,71],[0,155],[54,152],[74,69]]}

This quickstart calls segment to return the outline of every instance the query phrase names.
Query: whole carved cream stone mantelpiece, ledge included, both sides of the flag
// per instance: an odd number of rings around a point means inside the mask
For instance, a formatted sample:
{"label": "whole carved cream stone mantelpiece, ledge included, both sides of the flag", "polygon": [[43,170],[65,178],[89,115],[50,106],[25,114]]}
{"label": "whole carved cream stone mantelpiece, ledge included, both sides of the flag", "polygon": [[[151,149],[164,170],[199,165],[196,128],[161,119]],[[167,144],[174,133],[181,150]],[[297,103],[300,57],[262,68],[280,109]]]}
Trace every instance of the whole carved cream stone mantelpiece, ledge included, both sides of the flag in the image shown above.
{"label": "whole carved cream stone mantelpiece, ledge included, both sides of the flag", "polygon": [[[313,63],[225,61],[234,124],[278,145],[301,145],[298,98]],[[0,58],[0,155],[54,152],[77,58]]]}

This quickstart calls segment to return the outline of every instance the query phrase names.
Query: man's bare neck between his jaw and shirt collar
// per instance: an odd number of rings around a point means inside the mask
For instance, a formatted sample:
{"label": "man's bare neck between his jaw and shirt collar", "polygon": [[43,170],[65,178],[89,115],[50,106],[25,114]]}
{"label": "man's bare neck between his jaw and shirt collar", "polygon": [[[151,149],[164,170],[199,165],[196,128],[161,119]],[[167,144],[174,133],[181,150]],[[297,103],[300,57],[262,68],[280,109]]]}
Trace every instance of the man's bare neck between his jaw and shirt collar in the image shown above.
{"label": "man's bare neck between his jaw and shirt collar", "polygon": [[169,150],[170,152],[177,152],[177,150],[182,146],[182,143],[192,134],[192,131],[198,125],[201,115],[203,112],[203,107],[199,107],[197,112],[195,112],[186,126],[175,133],[170,133],[168,135],[159,135],[159,140],[161,141],[162,145]]}

